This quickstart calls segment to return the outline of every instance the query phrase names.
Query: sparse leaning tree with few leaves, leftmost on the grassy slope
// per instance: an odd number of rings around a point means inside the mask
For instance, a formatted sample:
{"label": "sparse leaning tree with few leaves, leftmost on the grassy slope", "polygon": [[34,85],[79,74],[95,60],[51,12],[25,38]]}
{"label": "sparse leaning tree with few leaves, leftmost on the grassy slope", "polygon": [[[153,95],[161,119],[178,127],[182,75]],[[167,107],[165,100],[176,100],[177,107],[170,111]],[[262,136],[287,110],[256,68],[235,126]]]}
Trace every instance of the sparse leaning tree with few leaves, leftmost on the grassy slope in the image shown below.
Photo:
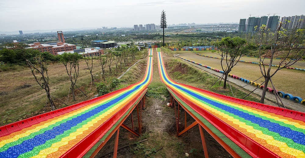
{"label": "sparse leaning tree with few leaves, leftmost on the grassy slope", "polygon": [[[27,60],[27,64],[30,67],[36,82],[47,93],[47,98],[50,102],[51,109],[54,110],[55,105],[50,95],[48,67],[45,59],[38,54],[36,57],[34,57],[33,63],[31,63],[30,60]],[[45,106],[47,106],[47,104]]]}

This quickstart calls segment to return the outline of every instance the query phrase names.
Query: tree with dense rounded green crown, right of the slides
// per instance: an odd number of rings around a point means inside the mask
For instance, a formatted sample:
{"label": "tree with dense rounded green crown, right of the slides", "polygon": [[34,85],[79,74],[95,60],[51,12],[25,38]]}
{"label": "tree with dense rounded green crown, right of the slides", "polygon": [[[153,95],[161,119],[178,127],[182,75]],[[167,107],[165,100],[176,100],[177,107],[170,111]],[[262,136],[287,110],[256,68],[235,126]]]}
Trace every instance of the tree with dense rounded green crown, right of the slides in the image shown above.
{"label": "tree with dense rounded green crown, right of the slides", "polygon": [[246,53],[245,44],[246,40],[240,37],[225,37],[215,43],[218,48],[217,53],[221,56],[221,68],[224,71],[224,89],[227,88],[228,74],[238,63],[240,57]]}

